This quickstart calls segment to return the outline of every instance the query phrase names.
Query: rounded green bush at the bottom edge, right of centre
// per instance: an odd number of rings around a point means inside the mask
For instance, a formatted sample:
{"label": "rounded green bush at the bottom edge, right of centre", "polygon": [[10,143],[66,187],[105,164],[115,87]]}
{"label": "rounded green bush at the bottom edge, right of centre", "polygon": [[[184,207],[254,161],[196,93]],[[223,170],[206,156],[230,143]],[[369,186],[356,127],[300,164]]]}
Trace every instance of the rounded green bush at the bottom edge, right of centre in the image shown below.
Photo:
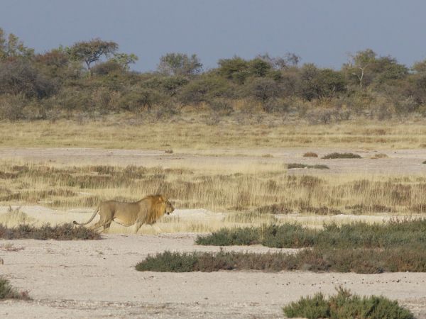
{"label": "rounded green bush at the bottom edge, right of centre", "polygon": [[411,319],[410,310],[383,296],[357,296],[349,290],[338,289],[337,295],[327,300],[322,293],[313,297],[302,297],[283,308],[288,318],[303,317],[309,319]]}

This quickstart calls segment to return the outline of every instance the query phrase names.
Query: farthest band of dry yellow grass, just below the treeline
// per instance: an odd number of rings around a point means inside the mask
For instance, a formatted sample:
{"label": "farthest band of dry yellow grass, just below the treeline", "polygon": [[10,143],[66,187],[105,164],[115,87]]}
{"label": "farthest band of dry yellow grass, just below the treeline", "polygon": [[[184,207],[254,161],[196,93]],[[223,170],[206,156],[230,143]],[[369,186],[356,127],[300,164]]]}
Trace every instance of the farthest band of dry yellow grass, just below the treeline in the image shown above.
{"label": "farthest band of dry yellow grass, just below the treeline", "polygon": [[152,150],[209,150],[233,147],[356,147],[374,149],[424,148],[422,120],[376,122],[363,119],[334,125],[285,123],[265,115],[263,121],[246,116],[223,118],[207,125],[189,113],[150,123],[145,117],[110,116],[102,121],[60,120],[0,123],[2,147],[104,147]]}

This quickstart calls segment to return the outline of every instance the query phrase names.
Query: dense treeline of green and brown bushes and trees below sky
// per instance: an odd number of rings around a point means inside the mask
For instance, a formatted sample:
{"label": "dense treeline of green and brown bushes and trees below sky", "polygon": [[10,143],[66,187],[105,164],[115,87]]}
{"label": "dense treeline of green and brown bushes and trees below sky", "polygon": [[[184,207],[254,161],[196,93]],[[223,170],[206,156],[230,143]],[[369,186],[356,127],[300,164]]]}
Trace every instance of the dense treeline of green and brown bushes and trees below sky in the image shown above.
{"label": "dense treeline of green and brown bushes and trees below sky", "polygon": [[101,39],[36,53],[0,29],[0,119],[185,110],[288,113],[310,123],[426,116],[426,60],[407,67],[370,49],[339,70],[301,64],[292,53],[220,59],[208,70],[197,55],[169,53],[144,73],[131,71],[136,60]]}

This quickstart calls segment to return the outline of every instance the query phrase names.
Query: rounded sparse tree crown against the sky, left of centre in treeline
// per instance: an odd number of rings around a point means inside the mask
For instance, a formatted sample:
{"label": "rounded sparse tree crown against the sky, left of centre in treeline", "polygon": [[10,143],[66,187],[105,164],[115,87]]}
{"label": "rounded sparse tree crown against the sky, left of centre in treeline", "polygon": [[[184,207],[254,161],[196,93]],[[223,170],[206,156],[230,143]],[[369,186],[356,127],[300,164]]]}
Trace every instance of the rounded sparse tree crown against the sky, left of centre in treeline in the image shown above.
{"label": "rounded sparse tree crown against the sky, left of centre in treeline", "polygon": [[197,55],[188,57],[185,53],[168,53],[160,57],[158,71],[167,75],[193,75],[200,73],[202,63]]}

